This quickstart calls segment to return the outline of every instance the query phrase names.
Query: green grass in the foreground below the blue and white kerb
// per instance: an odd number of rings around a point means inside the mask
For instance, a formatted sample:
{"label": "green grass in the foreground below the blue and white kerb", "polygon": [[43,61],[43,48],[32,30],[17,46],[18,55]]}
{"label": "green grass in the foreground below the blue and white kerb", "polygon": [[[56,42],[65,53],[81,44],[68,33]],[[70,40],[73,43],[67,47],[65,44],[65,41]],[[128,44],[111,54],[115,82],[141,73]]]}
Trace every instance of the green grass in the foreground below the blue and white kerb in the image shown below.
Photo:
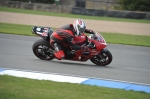
{"label": "green grass in the foreground below the blue and white kerb", "polygon": [[0,99],[150,99],[150,94],[0,75]]}

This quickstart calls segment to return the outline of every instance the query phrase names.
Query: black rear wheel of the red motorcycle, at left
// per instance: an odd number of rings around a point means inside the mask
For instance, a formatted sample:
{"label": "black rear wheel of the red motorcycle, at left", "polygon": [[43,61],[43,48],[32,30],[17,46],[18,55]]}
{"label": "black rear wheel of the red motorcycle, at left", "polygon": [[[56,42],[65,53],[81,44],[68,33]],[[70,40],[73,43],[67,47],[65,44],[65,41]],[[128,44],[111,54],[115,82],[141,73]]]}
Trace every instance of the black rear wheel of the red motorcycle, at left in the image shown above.
{"label": "black rear wheel of the red motorcycle, at left", "polygon": [[37,56],[42,60],[52,60],[54,58],[53,50],[50,47],[49,42],[46,40],[43,39],[37,40],[33,44],[32,50],[35,56]]}

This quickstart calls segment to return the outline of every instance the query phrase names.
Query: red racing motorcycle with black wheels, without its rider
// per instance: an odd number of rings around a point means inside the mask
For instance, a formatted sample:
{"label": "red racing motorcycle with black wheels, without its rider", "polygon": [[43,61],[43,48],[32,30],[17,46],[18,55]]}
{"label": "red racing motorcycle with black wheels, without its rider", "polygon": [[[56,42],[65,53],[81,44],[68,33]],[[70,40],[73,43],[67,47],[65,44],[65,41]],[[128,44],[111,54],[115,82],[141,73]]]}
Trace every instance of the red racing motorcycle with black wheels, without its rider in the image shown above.
{"label": "red racing motorcycle with black wheels, without its rider", "polygon": [[[54,59],[54,49],[49,43],[53,30],[49,27],[34,26],[32,33],[43,38],[37,40],[32,46],[35,56],[42,60]],[[81,50],[72,50],[67,43],[63,43],[62,48],[65,53],[65,60],[87,61],[90,59],[91,62],[99,66],[106,66],[111,63],[112,54],[106,48],[106,41],[101,34],[96,32],[87,36],[85,33],[82,33],[74,38],[74,42],[81,46]],[[88,50],[84,49],[86,46],[89,47]]]}

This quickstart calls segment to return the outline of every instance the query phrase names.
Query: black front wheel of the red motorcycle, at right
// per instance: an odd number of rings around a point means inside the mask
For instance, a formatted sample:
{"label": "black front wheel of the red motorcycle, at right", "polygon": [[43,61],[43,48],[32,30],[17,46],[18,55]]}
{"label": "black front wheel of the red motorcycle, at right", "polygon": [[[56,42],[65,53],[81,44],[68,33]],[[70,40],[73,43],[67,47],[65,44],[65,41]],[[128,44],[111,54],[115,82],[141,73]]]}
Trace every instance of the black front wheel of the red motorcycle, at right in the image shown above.
{"label": "black front wheel of the red motorcycle, at right", "polygon": [[97,56],[91,58],[90,60],[96,65],[106,66],[112,62],[112,59],[113,57],[109,50],[104,50]]}

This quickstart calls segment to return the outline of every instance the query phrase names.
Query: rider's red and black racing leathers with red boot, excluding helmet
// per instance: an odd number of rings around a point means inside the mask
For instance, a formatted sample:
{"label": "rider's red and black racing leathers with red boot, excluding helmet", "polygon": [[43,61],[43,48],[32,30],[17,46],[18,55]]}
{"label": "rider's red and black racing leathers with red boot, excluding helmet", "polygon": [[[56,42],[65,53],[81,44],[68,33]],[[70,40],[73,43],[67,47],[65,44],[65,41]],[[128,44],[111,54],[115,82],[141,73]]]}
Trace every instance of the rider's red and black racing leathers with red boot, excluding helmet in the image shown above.
{"label": "rider's red and black racing leathers with red boot, excluding helmet", "polygon": [[[92,30],[86,29],[86,33],[92,33]],[[80,50],[81,47],[73,42],[75,31],[72,24],[68,24],[56,29],[50,37],[50,45],[54,48],[54,55],[57,59],[61,60],[65,57],[62,50],[62,42],[67,42],[73,50]]]}

